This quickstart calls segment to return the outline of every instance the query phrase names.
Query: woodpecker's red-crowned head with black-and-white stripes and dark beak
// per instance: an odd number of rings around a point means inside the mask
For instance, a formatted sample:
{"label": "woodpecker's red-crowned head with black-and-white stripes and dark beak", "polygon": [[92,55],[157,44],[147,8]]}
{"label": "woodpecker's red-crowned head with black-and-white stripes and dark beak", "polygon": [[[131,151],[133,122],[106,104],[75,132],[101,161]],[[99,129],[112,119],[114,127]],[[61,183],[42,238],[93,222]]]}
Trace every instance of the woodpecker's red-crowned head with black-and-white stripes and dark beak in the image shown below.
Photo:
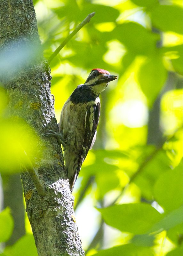
{"label": "woodpecker's red-crowned head with black-and-white stripes and dark beak", "polygon": [[107,70],[94,68],[86,79],[84,84],[88,85],[95,95],[99,95],[107,87],[110,81],[117,78],[115,75],[110,75]]}

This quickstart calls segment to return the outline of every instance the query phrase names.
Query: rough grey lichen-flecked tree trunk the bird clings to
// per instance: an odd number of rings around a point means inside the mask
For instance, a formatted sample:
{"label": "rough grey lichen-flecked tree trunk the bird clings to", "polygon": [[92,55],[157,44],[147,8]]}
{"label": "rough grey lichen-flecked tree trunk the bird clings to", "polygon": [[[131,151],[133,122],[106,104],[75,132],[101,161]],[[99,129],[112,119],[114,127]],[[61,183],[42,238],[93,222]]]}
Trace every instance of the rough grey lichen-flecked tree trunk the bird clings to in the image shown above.
{"label": "rough grey lichen-flecked tree trunk the bird clings to", "polygon": [[61,147],[56,139],[44,136],[49,129],[58,132],[58,126],[32,0],[1,0],[0,24],[0,79],[7,91],[9,113],[23,118],[42,138],[34,149],[38,157],[33,165],[45,196],[38,195],[27,171],[21,174],[38,255],[84,255]]}

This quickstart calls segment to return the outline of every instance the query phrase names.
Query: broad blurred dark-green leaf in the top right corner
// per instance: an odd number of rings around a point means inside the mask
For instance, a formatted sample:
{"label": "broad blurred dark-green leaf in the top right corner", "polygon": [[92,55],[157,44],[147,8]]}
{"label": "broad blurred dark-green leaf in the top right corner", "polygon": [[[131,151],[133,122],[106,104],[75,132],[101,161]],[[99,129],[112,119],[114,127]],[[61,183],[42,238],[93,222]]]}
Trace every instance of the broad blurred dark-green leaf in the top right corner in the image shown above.
{"label": "broad blurred dark-green leaf in the top right corner", "polygon": [[153,26],[162,31],[182,34],[182,8],[178,5],[159,5],[151,12]]}

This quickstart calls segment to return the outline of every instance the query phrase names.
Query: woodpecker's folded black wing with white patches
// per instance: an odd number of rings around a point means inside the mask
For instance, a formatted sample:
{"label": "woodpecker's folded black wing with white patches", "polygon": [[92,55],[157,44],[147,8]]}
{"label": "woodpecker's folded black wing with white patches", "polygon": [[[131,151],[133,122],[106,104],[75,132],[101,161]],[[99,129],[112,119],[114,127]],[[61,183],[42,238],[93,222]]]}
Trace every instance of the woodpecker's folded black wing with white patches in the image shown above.
{"label": "woodpecker's folded black wing with white patches", "polygon": [[97,129],[97,125],[99,123],[99,116],[100,116],[100,102],[97,102],[96,104],[87,108],[86,115],[85,115],[85,123],[84,123],[83,145],[82,145],[79,159],[77,162],[76,174],[73,177],[74,178],[73,181],[71,181],[71,184],[72,184],[71,191],[74,187],[74,183],[75,183],[77,176],[79,174],[79,171],[81,169],[81,165],[83,164],[84,159],[86,158],[89,149],[92,148],[92,146],[95,142],[96,129]]}

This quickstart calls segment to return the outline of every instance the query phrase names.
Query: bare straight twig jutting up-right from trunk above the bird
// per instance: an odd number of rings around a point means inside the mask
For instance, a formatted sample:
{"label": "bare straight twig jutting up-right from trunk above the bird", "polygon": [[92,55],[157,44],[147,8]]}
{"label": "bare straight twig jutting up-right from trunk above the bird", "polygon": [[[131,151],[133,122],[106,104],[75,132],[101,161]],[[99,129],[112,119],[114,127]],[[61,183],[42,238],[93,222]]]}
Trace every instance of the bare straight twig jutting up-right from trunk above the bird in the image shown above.
{"label": "bare straight twig jutting up-right from trunk above the bird", "polygon": [[48,63],[50,63],[55,56],[60,52],[60,50],[68,43],[68,41],[76,35],[76,33],[86,25],[86,23],[90,22],[91,18],[95,15],[95,12],[88,14],[88,16],[75,28],[75,30],[70,33],[70,35],[59,45],[59,47],[52,53],[50,58],[48,59]]}

